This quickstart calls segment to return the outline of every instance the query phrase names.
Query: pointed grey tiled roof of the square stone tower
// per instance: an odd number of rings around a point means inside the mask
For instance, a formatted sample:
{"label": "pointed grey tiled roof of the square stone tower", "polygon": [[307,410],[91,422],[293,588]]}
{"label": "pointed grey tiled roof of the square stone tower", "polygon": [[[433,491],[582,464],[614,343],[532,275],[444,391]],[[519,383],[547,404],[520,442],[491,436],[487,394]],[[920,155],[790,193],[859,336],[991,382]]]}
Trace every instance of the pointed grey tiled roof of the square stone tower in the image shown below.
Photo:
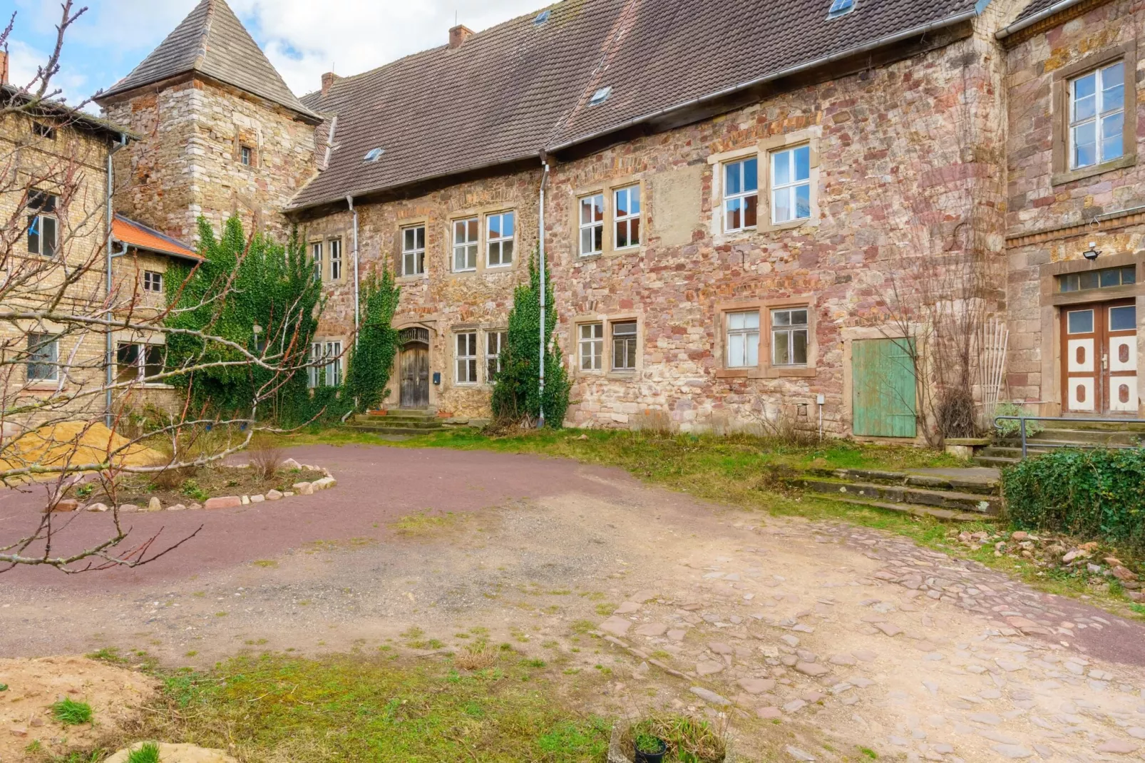
{"label": "pointed grey tiled roof of the square stone tower", "polygon": [[100,100],[136,87],[198,72],[284,105],[306,117],[302,105],[224,0],[203,0],[127,77]]}

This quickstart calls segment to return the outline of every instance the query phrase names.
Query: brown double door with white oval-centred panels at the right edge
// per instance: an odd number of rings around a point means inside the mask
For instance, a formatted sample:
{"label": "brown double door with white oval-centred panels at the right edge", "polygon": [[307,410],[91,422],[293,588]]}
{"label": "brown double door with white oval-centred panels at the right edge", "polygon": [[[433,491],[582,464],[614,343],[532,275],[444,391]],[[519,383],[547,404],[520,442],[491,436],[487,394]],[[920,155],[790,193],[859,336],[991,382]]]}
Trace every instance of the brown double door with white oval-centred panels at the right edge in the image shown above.
{"label": "brown double door with white oval-centred panels at the right edge", "polygon": [[1071,414],[1137,412],[1134,300],[1061,310],[1061,406]]}

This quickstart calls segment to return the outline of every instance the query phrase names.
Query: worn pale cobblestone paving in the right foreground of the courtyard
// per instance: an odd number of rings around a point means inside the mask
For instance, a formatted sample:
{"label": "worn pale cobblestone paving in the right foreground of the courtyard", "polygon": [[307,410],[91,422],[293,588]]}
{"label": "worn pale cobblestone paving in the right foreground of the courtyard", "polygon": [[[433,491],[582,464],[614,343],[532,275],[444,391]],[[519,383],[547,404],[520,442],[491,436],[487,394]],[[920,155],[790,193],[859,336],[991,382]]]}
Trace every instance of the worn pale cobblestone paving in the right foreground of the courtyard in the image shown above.
{"label": "worn pale cobblestone paving in the right foreground of the courtyard", "polygon": [[908,761],[1145,760],[1145,675],[1095,655],[1139,654],[1139,624],[877,530],[735,528],[757,545],[681,559],[677,590],[635,592],[600,626],[646,660],[638,676],[689,679],[677,706],[805,721]]}

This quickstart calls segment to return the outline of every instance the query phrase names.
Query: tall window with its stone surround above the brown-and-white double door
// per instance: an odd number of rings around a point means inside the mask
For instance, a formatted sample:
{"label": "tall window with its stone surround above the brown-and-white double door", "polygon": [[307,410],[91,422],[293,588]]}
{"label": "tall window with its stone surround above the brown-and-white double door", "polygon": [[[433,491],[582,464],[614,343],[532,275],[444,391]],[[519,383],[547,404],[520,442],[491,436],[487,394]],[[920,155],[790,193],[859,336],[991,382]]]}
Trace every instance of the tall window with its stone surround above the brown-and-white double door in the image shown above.
{"label": "tall window with its stone surround above the brown-and-white double door", "polygon": [[1100,50],[1055,72],[1052,184],[1137,164],[1136,72],[1136,44]]}

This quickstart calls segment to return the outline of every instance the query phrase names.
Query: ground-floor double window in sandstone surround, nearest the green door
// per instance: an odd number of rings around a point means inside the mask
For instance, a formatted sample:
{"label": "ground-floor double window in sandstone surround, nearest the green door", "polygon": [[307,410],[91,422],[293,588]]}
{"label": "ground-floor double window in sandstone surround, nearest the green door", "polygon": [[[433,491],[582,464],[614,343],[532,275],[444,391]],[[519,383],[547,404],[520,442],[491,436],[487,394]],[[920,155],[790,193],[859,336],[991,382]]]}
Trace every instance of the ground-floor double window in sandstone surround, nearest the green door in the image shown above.
{"label": "ground-floor double window in sandstone surround, nearest the green door", "polygon": [[[792,323],[792,317],[805,323]],[[818,372],[812,297],[719,302],[714,329],[717,378],[814,377]]]}

